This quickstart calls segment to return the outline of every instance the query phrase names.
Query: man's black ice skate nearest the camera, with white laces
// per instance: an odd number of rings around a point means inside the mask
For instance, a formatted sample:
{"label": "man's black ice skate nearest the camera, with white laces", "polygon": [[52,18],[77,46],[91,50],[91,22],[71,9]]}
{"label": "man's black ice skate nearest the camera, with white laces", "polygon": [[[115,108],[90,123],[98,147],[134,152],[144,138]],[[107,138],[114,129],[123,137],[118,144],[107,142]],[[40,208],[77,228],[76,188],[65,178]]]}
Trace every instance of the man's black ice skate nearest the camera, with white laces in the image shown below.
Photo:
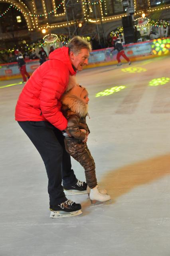
{"label": "man's black ice skate nearest the camera, with white laces", "polygon": [[76,204],[71,200],[67,200],[56,206],[49,206],[51,211],[50,218],[76,217],[82,214],[81,204]]}

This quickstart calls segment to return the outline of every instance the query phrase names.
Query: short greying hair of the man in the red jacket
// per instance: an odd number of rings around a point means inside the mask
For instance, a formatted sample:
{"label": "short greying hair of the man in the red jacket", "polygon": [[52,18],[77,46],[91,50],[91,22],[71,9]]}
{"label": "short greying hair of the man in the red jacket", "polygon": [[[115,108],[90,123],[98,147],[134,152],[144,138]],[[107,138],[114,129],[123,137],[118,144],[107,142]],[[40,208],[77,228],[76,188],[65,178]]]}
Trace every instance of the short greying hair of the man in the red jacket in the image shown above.
{"label": "short greying hair of the man in the red jacket", "polygon": [[77,55],[83,48],[86,48],[89,50],[89,52],[91,52],[90,42],[81,38],[80,36],[74,36],[67,44],[67,47],[69,48],[69,52],[72,51],[75,55]]}

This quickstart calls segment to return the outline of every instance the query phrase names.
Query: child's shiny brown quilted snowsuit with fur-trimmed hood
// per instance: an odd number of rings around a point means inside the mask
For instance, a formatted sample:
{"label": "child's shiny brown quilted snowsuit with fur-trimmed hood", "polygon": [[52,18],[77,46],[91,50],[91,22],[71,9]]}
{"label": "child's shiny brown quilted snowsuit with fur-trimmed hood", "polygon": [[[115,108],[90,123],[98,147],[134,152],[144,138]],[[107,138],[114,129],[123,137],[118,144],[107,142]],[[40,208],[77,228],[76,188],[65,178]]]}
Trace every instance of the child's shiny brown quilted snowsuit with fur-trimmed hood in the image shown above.
{"label": "child's shiny brown quilted snowsuit with fur-trimmed hood", "polygon": [[[72,137],[65,137],[65,149],[84,167],[86,182],[90,188],[93,188],[97,185],[95,162],[87,144],[83,143],[87,131],[90,133],[86,124],[87,104],[75,95],[68,95],[67,93],[61,102],[63,103],[63,115],[68,121],[67,129],[72,135]],[[80,129],[84,129],[86,132]]]}

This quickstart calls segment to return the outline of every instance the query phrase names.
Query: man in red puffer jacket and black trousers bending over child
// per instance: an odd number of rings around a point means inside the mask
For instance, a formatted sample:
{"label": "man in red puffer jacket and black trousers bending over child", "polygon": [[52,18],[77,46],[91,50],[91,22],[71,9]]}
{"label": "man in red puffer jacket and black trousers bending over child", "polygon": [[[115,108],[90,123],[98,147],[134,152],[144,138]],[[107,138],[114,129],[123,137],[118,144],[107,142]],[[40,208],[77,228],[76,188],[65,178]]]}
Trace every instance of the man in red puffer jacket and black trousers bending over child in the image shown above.
{"label": "man in red puffer jacket and black trousers bending over child", "polygon": [[[75,83],[76,71],[88,64],[91,45],[75,36],[67,47],[54,50],[24,86],[16,104],[15,119],[40,153],[48,176],[51,218],[81,214],[81,205],[67,200],[63,191],[85,194],[87,183],[79,181],[65,151],[62,130],[67,119],[61,113],[61,96]],[[69,87],[69,88],[68,88]],[[63,179],[63,186],[61,185]]]}

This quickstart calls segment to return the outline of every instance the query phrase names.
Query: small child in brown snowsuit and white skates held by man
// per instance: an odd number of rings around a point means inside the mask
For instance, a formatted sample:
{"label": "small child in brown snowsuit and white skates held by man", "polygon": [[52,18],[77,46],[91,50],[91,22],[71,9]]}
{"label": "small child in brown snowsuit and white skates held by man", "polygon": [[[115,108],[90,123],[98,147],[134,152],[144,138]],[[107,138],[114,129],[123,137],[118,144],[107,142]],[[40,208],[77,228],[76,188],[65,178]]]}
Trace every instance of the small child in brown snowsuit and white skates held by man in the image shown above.
{"label": "small child in brown snowsuit and white skates held by man", "polygon": [[66,151],[85,169],[86,182],[90,187],[91,201],[105,202],[110,200],[106,191],[99,191],[95,174],[95,162],[87,147],[87,136],[90,131],[86,124],[88,115],[88,92],[81,85],[75,85],[61,99],[62,112],[66,117],[67,129],[71,137],[63,131]]}

